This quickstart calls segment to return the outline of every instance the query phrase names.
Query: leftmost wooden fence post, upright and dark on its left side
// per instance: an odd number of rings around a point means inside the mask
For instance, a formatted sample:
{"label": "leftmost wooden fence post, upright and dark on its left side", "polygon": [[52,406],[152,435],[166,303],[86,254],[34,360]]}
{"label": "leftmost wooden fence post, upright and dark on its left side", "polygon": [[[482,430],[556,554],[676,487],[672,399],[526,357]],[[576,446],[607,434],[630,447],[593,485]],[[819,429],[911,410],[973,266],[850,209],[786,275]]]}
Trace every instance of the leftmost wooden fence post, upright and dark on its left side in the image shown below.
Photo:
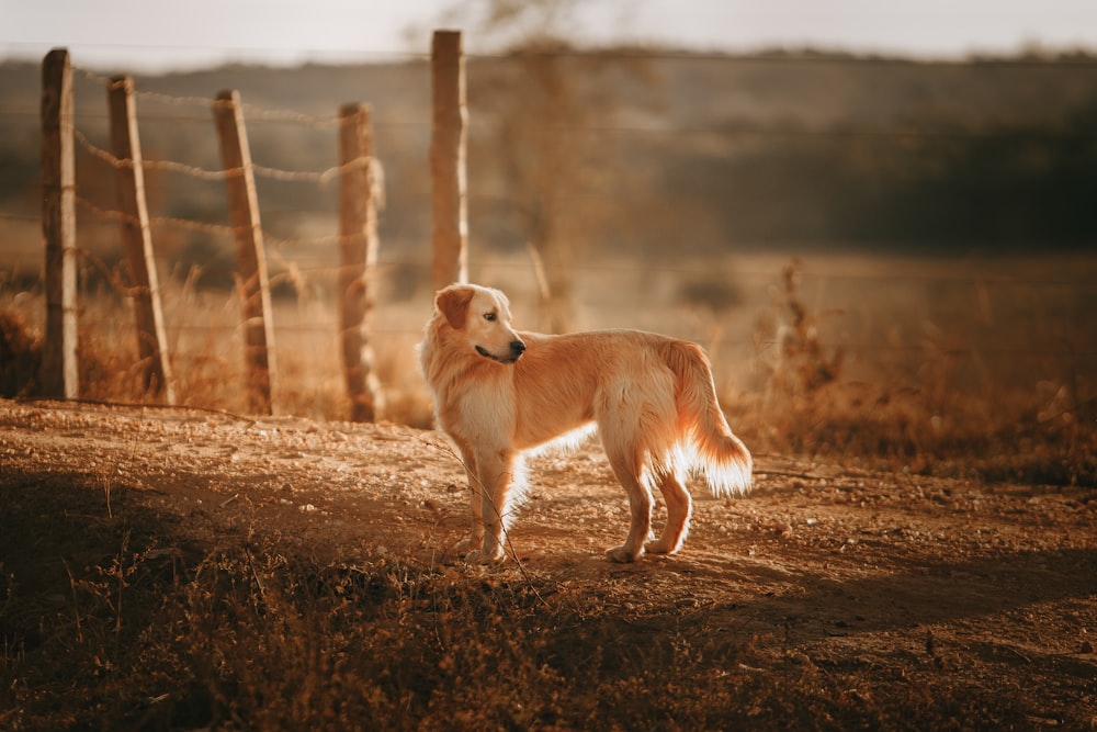
{"label": "leftmost wooden fence post, upright and dark on its left side", "polygon": [[46,336],[42,394],[80,395],[77,369],[76,162],[72,65],[55,48],[42,63],[42,234],[46,243]]}

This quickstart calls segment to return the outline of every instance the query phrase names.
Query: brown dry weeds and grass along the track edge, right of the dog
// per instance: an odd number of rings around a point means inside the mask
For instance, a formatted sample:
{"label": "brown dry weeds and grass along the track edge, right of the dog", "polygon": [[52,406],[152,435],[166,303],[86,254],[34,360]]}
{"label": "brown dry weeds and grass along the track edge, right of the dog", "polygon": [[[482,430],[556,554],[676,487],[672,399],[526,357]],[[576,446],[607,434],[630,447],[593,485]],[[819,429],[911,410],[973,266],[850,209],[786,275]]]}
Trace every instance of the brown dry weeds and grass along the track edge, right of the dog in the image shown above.
{"label": "brown dry weeds and grass along the track edge, right of the dog", "polygon": [[[1054,382],[1033,391],[958,373],[950,349],[927,339],[923,361],[880,363],[880,378],[846,376],[840,347],[799,290],[801,264],[782,272],[776,315],[756,333],[760,395],[725,394],[744,436],[761,452],[817,455],[887,470],[1052,485],[1097,484],[1094,399]],[[761,344],[776,341],[776,358]]]}

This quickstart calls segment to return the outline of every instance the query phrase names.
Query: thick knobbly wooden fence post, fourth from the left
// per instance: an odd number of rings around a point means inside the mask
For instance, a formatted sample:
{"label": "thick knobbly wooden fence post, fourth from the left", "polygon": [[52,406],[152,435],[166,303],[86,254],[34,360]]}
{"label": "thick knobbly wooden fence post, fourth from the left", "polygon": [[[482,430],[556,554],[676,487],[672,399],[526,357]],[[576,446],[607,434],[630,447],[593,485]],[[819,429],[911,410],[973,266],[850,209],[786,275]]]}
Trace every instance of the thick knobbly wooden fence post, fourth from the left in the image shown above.
{"label": "thick knobbly wooden fence post, fourth from the left", "polygon": [[377,263],[377,198],[370,111],[339,110],[339,334],[352,421],[375,421],[384,394],[373,372],[370,320]]}

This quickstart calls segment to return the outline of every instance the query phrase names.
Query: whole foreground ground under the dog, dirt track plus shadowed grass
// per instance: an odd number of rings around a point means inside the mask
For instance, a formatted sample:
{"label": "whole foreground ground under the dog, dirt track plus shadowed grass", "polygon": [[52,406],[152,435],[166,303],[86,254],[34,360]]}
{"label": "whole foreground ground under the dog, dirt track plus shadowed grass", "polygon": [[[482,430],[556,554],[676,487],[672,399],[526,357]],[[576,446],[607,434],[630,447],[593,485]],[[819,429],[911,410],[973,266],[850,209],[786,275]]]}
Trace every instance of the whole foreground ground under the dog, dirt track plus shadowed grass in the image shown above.
{"label": "whole foreground ground under the dog, dirt track plus shadowed grass", "polygon": [[0,402],[0,724],[1097,728],[1097,496],[761,457],[612,564],[599,450],[466,566],[433,432]]}

